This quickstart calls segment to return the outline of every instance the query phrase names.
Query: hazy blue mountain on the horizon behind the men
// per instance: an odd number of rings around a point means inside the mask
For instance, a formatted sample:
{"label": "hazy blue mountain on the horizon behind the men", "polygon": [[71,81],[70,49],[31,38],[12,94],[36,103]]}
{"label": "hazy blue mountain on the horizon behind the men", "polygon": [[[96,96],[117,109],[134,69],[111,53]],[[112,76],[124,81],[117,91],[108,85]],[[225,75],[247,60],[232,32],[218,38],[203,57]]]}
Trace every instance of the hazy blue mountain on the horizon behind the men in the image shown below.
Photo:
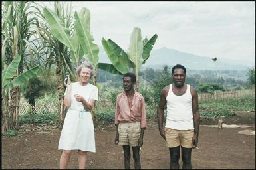
{"label": "hazy blue mountain on the horizon behind the men", "polygon": [[[99,57],[99,62],[110,63],[103,47],[100,47]],[[251,68],[251,66],[241,63],[235,60],[221,60],[220,58],[213,61],[210,57],[197,56],[164,47],[157,50],[153,49],[142,67],[158,69],[162,68],[163,65],[182,64],[190,70],[247,70]]]}

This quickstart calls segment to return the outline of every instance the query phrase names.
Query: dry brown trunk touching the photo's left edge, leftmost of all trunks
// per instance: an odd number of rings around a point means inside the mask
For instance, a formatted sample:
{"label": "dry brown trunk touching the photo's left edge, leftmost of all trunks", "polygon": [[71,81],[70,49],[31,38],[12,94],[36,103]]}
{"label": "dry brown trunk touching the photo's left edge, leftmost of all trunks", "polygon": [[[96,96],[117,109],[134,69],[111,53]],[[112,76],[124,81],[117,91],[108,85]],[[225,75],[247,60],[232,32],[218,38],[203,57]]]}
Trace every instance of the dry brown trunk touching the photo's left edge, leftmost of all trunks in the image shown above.
{"label": "dry brown trunk touching the photo's left edge, leftmost of all trunks", "polygon": [[9,94],[5,94],[2,90],[2,135],[5,134],[6,131],[9,130]]}

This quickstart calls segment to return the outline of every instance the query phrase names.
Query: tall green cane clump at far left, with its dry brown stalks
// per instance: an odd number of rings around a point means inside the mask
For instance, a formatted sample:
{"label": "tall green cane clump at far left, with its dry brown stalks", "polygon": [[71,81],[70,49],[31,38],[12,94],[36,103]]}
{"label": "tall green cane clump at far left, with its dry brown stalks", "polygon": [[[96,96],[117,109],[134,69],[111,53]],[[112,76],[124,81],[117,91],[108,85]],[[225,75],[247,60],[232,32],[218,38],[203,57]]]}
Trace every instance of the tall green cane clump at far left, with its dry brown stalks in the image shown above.
{"label": "tall green cane clump at far left, with its dry brown stalks", "polygon": [[36,10],[33,2],[2,3],[2,133],[10,128],[18,129],[20,85],[39,69],[31,47]]}

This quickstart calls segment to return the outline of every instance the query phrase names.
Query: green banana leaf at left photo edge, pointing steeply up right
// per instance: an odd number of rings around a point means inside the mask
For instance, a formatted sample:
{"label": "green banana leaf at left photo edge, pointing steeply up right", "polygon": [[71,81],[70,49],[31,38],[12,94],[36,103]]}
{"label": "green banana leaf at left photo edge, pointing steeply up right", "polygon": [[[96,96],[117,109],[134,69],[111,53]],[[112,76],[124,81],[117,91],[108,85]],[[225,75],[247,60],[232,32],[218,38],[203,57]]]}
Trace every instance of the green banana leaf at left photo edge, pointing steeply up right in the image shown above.
{"label": "green banana leaf at left photo edge, pointing steeply up right", "polygon": [[13,59],[11,64],[9,64],[7,69],[2,71],[2,88],[6,86],[6,84],[9,82],[11,78],[13,78],[15,71],[19,66],[20,61],[21,61],[21,56],[18,55]]}

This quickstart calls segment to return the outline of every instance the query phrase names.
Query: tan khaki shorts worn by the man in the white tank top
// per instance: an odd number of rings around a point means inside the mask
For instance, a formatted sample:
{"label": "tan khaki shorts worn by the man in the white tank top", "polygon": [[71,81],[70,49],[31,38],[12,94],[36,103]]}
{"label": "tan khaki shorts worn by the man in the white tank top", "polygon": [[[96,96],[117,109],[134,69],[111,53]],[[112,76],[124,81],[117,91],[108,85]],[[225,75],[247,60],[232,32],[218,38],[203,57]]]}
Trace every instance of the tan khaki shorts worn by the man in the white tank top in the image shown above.
{"label": "tan khaki shorts worn by the man in the white tank top", "polygon": [[165,128],[164,133],[166,135],[166,146],[167,147],[177,147],[181,145],[182,147],[192,148],[192,138],[194,135],[193,129],[189,130],[176,130]]}

